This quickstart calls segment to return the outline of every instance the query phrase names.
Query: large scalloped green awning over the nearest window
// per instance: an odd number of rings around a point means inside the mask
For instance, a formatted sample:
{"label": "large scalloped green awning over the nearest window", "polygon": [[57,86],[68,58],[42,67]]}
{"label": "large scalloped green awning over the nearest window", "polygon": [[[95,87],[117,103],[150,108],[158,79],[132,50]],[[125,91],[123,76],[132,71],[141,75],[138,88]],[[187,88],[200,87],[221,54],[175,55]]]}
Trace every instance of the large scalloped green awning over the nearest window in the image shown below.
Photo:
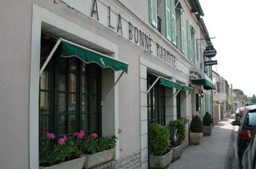
{"label": "large scalloped green awning over the nearest window", "polygon": [[124,63],[121,60],[111,58],[108,55],[89,50],[86,47],[82,47],[78,44],[71,44],[62,41],[61,42],[61,57],[70,58],[77,57],[84,63],[97,63],[102,68],[112,68],[115,71],[128,72],[128,63]]}

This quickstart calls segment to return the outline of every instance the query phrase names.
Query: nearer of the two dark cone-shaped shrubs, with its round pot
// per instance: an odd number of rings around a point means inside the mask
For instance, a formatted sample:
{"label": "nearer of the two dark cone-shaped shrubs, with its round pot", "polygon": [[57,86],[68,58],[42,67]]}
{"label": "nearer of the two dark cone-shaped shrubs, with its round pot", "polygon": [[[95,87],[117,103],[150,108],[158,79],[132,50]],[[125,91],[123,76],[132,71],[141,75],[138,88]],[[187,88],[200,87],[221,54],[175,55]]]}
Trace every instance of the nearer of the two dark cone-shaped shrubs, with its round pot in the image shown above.
{"label": "nearer of the two dark cone-shaped shrubs, with its round pot", "polygon": [[189,138],[190,142],[192,144],[200,144],[200,141],[203,137],[203,124],[197,115],[192,118],[191,124],[190,124],[190,132],[189,132]]}

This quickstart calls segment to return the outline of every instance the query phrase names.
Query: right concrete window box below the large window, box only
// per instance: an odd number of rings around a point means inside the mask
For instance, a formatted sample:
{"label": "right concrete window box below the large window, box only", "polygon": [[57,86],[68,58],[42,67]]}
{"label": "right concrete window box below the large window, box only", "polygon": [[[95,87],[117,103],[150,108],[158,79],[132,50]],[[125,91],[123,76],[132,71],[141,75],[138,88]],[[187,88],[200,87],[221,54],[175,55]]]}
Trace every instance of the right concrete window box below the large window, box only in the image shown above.
{"label": "right concrete window box below the large window, box only", "polygon": [[82,154],[82,156],[86,157],[83,168],[93,168],[112,160],[115,155],[115,151],[116,149],[108,149],[94,154]]}

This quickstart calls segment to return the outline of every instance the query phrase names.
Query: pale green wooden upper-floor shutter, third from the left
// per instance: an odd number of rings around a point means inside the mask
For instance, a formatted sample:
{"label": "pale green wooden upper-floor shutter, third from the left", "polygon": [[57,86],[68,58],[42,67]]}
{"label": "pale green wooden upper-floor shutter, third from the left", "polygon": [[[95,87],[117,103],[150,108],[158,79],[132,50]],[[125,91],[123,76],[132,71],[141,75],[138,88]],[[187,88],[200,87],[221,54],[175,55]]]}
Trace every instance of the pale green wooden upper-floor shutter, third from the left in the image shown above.
{"label": "pale green wooden upper-floor shutter, third from the left", "polygon": [[171,34],[171,41],[173,42],[174,45],[177,45],[176,41],[176,11],[175,11],[175,0],[170,0],[170,34]]}

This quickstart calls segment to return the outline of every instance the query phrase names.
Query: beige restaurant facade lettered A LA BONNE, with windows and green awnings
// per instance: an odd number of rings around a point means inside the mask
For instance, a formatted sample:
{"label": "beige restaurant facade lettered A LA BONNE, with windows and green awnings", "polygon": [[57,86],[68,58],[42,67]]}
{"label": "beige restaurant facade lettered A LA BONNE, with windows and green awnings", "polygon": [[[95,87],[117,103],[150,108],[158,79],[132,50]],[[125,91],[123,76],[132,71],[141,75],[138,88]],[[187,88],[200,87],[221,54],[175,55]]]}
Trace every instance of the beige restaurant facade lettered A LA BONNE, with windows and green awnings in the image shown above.
{"label": "beige restaurant facade lettered A LA BONNE, with windows and green awnings", "polygon": [[0,13],[0,168],[39,168],[48,132],[119,128],[116,166],[148,168],[149,122],[213,112],[198,0],[4,0]]}

